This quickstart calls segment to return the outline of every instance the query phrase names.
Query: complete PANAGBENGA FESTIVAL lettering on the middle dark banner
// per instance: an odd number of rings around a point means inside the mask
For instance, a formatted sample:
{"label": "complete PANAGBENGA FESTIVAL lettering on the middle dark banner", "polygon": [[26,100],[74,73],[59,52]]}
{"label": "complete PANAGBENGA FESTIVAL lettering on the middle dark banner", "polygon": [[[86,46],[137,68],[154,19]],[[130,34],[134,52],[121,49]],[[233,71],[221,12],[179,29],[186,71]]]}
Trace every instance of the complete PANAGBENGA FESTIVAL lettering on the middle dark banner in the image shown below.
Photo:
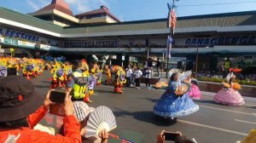
{"label": "complete PANAGBENGA FESTIVAL lettering on the middle dark banner", "polygon": [[117,48],[119,47],[118,40],[106,40],[106,41],[65,41],[65,48]]}

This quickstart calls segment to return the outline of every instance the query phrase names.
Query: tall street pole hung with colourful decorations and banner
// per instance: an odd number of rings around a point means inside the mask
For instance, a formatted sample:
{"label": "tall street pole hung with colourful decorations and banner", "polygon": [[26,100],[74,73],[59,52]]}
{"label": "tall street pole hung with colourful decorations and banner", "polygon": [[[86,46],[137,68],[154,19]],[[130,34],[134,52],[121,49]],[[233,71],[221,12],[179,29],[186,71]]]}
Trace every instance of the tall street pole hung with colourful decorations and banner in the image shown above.
{"label": "tall street pole hung with colourful decorations and banner", "polygon": [[[170,28],[170,35],[168,36],[167,39],[167,52],[166,52],[166,58],[167,58],[167,66],[166,66],[166,77],[168,77],[168,72],[169,72],[169,59],[171,59],[171,50],[172,50],[172,37],[174,36],[174,28],[175,28],[175,23],[176,23],[176,14],[174,12],[174,9],[176,8],[175,1],[178,0],[172,0],[171,6],[169,3],[168,9],[169,9],[169,14],[168,14],[168,27]],[[175,16],[173,16],[175,15]],[[175,20],[170,20],[170,19],[175,19]],[[174,21],[174,22],[173,22]],[[170,23],[171,22],[171,23]],[[173,26],[174,25],[174,26]],[[171,38],[171,39],[170,39]],[[171,40],[171,41],[170,41]]]}

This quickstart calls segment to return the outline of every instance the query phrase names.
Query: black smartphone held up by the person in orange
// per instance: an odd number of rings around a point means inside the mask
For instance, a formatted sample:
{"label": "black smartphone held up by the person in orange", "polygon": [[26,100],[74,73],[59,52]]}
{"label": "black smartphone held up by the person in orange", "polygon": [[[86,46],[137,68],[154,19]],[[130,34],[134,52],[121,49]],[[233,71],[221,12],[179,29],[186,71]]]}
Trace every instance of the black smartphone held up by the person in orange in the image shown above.
{"label": "black smartphone held up by the person in orange", "polygon": [[50,92],[49,100],[58,104],[64,103],[66,97],[65,89],[55,89]]}

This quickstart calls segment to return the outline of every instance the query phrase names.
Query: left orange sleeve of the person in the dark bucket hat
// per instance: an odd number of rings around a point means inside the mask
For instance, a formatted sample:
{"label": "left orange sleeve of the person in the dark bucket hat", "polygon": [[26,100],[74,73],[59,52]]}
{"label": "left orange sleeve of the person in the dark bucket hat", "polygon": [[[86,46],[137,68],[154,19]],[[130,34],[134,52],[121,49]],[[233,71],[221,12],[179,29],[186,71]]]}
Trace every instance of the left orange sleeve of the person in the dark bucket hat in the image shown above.
{"label": "left orange sleeve of the person in the dark bucket hat", "polygon": [[44,117],[47,111],[47,108],[41,106],[36,112],[33,112],[31,115],[29,115],[27,117],[27,121],[30,125],[30,128],[34,128],[39,123],[39,121]]}

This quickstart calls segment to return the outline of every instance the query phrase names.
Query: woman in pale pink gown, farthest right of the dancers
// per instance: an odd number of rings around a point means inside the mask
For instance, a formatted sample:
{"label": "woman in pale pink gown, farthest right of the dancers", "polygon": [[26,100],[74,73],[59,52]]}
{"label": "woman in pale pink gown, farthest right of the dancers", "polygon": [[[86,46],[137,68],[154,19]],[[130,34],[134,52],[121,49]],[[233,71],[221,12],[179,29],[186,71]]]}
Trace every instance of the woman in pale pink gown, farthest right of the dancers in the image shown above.
{"label": "woman in pale pink gown, farthest right of the dancers", "polygon": [[241,89],[241,85],[236,83],[236,76],[233,73],[230,73],[226,77],[229,83],[222,83],[224,86],[223,89],[220,89],[217,94],[215,94],[213,100],[216,103],[220,103],[227,106],[241,106],[244,104],[244,100],[241,97],[241,94],[238,92],[238,89]]}

